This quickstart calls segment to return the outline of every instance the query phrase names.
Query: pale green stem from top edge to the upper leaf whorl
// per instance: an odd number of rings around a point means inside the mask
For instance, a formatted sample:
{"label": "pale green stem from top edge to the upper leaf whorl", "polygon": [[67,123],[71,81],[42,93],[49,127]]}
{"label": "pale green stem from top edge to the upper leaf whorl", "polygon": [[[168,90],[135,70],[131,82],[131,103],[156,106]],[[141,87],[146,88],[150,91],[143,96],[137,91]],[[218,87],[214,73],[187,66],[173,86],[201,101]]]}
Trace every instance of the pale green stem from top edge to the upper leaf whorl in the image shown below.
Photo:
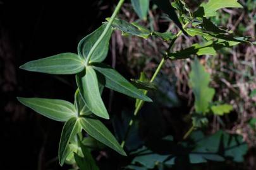
{"label": "pale green stem from top edge to the upper leaf whorl", "polygon": [[92,48],[90,48],[90,52],[87,55],[87,59],[85,60],[85,65],[88,65],[88,63],[90,62],[90,58],[92,57],[92,54],[94,53],[95,49],[98,47],[99,43],[101,43],[101,41],[103,40],[103,38],[105,37],[107,31],[109,30],[109,28],[111,27],[114,19],[116,18],[116,15],[118,14],[119,10],[121,9],[121,6],[123,5],[123,3],[125,2],[125,0],[119,0],[118,5],[116,6],[116,9],[114,9],[114,13],[112,14],[109,22],[107,23],[106,28],[104,29],[104,31],[102,32],[101,36],[99,37],[99,39],[94,43],[94,46],[92,46]]}

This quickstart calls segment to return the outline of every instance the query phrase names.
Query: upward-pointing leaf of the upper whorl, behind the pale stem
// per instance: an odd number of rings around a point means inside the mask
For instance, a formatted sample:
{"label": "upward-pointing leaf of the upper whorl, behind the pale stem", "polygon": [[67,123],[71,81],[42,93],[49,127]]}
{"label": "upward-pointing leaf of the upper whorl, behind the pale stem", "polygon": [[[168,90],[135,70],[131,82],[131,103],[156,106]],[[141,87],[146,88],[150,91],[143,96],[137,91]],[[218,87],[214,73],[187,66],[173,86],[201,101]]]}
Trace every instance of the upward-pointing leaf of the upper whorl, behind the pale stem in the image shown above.
{"label": "upward-pointing leaf of the upper whorl, behind the pale stem", "polygon": [[[88,53],[90,52],[90,49],[94,45],[94,43],[99,39],[102,32],[106,28],[106,24],[101,25],[97,30],[95,30],[90,35],[87,35],[85,38],[83,38],[78,43],[78,54],[80,57],[87,58]],[[106,36],[104,39],[99,43],[97,48],[95,49],[94,53],[92,54],[92,57],[90,58],[90,62],[102,62],[106,59],[107,53],[109,51],[109,40],[111,38],[113,30],[109,29],[107,30]]]}

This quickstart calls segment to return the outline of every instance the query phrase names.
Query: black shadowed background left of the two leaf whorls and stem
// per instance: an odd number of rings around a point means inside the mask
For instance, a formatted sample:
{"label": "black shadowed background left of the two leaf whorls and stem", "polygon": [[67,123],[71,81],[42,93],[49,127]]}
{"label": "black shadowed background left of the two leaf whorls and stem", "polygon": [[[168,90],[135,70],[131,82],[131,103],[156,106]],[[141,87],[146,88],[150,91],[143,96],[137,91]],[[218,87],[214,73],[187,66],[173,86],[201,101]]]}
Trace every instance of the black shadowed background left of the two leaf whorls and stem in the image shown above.
{"label": "black shadowed background left of the two leaf whorls and stem", "polygon": [[[62,123],[25,108],[16,96],[73,101],[74,76],[26,72],[30,60],[75,52],[78,42],[111,15],[113,1],[1,1],[0,169],[59,169]],[[111,6],[112,7],[112,6]],[[51,167],[51,168],[50,168]]]}

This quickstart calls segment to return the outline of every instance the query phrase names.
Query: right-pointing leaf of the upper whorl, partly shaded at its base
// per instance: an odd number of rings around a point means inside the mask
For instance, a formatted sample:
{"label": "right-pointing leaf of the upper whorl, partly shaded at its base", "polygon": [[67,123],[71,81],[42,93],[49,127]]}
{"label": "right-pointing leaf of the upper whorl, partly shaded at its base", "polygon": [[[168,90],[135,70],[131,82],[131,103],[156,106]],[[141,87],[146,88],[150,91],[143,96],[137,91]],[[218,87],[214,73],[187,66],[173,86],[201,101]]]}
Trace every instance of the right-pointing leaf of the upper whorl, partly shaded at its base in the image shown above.
{"label": "right-pointing leaf of the upper whorl, partly shaded at its base", "polygon": [[152,101],[149,97],[145,96],[142,91],[135,88],[135,86],[128,82],[112,67],[102,63],[93,63],[92,65],[94,69],[98,71],[97,76],[99,81],[107,88],[118,91],[119,93],[126,94],[132,98],[142,99],[143,101]]}

